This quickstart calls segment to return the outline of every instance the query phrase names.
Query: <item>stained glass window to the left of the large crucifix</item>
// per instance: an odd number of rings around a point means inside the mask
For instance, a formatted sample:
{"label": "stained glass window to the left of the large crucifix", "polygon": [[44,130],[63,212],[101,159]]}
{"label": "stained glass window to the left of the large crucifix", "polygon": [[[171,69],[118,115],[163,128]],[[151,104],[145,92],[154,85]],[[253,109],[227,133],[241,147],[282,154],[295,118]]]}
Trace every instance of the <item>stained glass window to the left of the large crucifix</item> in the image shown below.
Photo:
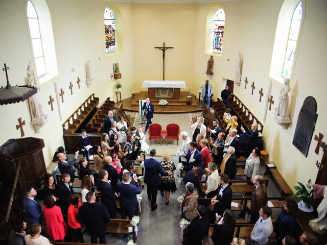
{"label": "stained glass window to the left of the large crucifix", "polygon": [[116,21],[112,9],[106,8],[104,11],[104,35],[106,42],[106,53],[116,51]]}

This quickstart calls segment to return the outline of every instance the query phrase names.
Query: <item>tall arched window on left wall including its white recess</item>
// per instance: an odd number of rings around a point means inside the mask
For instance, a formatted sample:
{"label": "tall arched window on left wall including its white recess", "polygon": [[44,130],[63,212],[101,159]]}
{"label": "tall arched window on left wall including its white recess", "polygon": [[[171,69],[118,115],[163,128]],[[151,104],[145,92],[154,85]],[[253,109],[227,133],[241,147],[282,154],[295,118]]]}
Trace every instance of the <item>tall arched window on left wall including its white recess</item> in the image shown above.
{"label": "tall arched window on left wall including its white recess", "polygon": [[45,83],[58,75],[55,41],[49,7],[45,0],[28,0],[26,5],[30,44],[38,82]]}

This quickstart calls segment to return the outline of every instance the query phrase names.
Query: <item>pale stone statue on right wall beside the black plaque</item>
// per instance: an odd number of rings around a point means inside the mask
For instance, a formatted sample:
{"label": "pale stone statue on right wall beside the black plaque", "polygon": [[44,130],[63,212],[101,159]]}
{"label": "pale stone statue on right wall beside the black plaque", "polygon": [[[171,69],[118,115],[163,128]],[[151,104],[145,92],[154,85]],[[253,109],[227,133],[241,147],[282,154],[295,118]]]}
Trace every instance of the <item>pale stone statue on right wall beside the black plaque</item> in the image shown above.
{"label": "pale stone statue on right wall beside the black plaque", "polygon": [[288,93],[290,91],[290,80],[286,78],[284,80],[284,87],[282,87],[278,96],[278,105],[275,107],[275,121],[283,129],[287,129],[288,125],[292,122],[288,111]]}

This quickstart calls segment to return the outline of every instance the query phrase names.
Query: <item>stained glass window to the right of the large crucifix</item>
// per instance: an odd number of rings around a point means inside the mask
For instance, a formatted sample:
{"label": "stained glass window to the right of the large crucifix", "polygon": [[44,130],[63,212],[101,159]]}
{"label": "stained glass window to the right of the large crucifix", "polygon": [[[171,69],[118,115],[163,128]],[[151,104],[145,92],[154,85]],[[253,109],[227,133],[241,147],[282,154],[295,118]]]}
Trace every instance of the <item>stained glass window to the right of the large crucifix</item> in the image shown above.
{"label": "stained glass window to the right of the large crucifix", "polygon": [[224,43],[225,12],[218,9],[213,21],[213,52],[222,53]]}

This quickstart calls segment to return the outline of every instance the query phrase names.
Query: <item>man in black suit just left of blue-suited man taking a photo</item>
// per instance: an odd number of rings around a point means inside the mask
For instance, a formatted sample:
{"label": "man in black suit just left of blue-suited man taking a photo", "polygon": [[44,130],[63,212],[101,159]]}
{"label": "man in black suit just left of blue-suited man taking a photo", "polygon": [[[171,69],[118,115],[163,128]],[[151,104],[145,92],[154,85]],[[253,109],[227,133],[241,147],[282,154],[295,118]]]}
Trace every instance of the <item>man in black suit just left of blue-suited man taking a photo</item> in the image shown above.
{"label": "man in black suit just left of blue-suited man taking a photo", "polygon": [[101,203],[106,206],[111,218],[116,218],[117,215],[117,207],[116,207],[116,198],[118,198],[118,194],[112,188],[112,185],[107,182],[108,180],[108,171],[106,169],[101,169],[99,172],[98,181],[98,191],[101,194]]}

